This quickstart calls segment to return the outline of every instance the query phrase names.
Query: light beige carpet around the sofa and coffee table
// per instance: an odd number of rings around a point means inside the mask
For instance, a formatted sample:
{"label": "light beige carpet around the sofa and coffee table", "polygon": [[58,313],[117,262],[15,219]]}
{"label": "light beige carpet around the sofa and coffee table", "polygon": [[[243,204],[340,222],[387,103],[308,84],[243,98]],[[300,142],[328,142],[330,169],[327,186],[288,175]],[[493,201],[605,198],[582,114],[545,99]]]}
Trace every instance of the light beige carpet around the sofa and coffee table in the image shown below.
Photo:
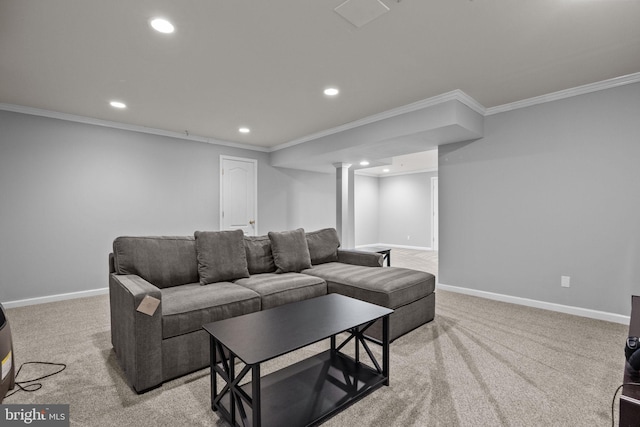
{"label": "light beige carpet around the sofa and coffee table", "polygon": [[[210,410],[209,369],[143,395],[129,388],[111,348],[107,296],[7,315],[18,366],[48,361],[68,368],[43,380],[41,390],[4,403],[68,403],[74,426],[226,425]],[[325,425],[610,425],[626,334],[624,325],[438,291],[435,320],[391,344],[391,385]],[[262,371],[327,346],[283,356]],[[25,367],[18,380],[51,370]]]}

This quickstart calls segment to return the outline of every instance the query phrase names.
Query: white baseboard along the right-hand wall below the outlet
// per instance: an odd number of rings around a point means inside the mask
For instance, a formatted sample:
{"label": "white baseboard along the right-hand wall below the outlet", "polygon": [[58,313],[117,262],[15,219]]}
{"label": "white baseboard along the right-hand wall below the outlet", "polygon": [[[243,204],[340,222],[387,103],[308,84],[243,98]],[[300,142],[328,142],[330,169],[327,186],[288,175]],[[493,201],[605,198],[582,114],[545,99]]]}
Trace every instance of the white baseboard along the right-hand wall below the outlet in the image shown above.
{"label": "white baseboard along the right-hand wall below the outlet", "polygon": [[621,323],[623,325],[628,325],[630,321],[629,316],[623,316],[622,314],[607,313],[606,311],[555,304],[552,302],[514,297],[511,295],[496,294],[493,292],[479,291],[477,289],[460,288],[458,286],[449,286],[443,283],[438,283],[436,288],[442,289],[443,291],[457,292],[460,294],[508,302],[511,304],[525,305],[527,307],[541,308],[543,310],[557,311],[560,313],[573,314],[575,316],[589,317],[591,319],[606,320],[607,322]]}

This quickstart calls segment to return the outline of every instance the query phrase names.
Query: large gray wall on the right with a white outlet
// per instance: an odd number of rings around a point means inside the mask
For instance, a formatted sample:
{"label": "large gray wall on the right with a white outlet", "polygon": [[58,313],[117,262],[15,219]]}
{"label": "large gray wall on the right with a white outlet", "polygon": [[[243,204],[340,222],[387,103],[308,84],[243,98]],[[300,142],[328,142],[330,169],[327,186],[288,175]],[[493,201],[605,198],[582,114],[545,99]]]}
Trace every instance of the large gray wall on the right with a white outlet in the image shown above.
{"label": "large gray wall on the right with a white outlet", "polygon": [[441,146],[439,281],[628,315],[639,118],[636,83],[491,115],[483,139]]}

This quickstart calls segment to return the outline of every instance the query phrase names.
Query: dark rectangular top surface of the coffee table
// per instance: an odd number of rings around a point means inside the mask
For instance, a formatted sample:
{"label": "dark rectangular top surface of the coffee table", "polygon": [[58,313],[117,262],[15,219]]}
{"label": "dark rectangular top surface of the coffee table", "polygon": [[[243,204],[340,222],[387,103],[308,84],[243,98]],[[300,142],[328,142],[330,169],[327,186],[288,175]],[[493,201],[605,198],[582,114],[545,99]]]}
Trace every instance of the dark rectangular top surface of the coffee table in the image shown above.
{"label": "dark rectangular top surface of the coffee table", "polygon": [[208,323],[203,328],[248,365],[262,363],[393,310],[328,294]]}

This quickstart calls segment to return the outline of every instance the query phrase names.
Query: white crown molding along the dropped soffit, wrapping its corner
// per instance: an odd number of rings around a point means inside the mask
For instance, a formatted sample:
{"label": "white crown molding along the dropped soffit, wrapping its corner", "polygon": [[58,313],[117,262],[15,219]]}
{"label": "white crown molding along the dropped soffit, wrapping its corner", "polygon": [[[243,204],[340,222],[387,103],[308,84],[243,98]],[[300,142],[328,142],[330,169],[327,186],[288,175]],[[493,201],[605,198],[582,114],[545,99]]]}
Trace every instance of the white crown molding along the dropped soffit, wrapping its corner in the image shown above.
{"label": "white crown molding along the dropped soffit, wrapping its corner", "polygon": [[326,129],[320,132],[316,132],[311,135],[303,136],[301,138],[294,139],[293,141],[285,142],[283,144],[279,144],[274,147],[271,147],[270,151],[273,152],[273,151],[282,150],[284,148],[293,147],[295,145],[302,144],[304,142],[313,141],[318,138],[344,132],[349,129],[354,129],[360,126],[367,125],[369,123],[375,123],[380,120],[385,120],[391,117],[396,117],[402,114],[418,111],[423,108],[432,107],[434,105],[438,105],[447,101],[460,101],[463,104],[465,104],[467,107],[471,108],[472,110],[484,115],[485,108],[482,105],[480,105],[476,100],[471,98],[469,95],[467,95],[463,91],[456,89],[456,90],[452,90],[451,92],[443,93],[442,95],[437,95],[431,98],[423,99],[421,101],[416,101],[411,104],[407,104],[398,108],[393,108],[391,110],[383,111],[382,113],[373,114],[371,116],[367,116],[362,119],[355,120],[353,122],[345,123],[344,125],[340,125],[331,129]]}

